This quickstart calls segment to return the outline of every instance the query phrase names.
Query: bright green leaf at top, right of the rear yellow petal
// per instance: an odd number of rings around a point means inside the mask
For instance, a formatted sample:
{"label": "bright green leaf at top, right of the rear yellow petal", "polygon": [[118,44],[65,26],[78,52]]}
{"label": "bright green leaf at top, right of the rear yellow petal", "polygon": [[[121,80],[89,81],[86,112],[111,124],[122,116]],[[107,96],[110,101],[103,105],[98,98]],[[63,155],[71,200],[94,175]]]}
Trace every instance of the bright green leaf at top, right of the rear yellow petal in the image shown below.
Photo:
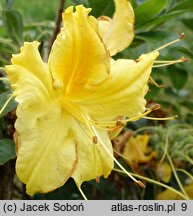
{"label": "bright green leaf at top, right of the rear yellow petal", "polygon": [[159,15],[168,4],[168,0],[147,0],[135,10],[136,26]]}

